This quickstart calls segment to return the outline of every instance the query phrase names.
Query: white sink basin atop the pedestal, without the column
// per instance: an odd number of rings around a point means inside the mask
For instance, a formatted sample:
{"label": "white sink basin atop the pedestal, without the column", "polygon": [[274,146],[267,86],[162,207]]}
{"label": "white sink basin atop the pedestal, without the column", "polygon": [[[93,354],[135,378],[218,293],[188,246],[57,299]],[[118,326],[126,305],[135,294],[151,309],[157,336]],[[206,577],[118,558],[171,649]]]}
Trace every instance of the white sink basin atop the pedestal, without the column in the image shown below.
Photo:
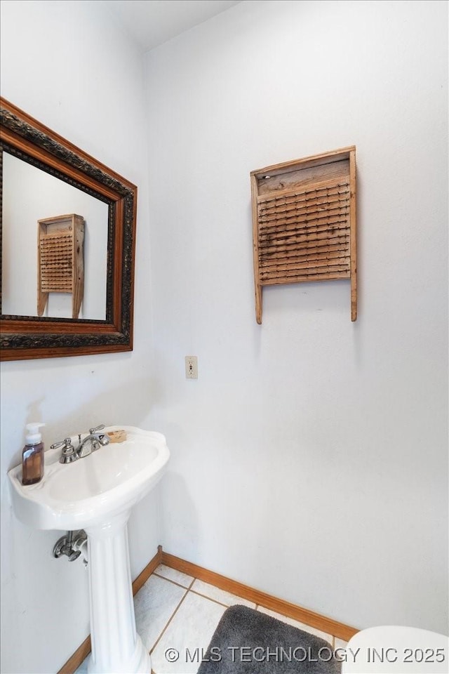
{"label": "white sink basin atop the pedestal, without the column", "polygon": [[[124,442],[100,447],[74,463],[59,463],[60,449],[45,452],[43,480],[25,487],[22,466],[9,471],[13,508],[34,529],[86,529],[131,508],[160,480],[170,453],[161,433],[133,426]],[[72,438],[76,447],[78,437]]]}

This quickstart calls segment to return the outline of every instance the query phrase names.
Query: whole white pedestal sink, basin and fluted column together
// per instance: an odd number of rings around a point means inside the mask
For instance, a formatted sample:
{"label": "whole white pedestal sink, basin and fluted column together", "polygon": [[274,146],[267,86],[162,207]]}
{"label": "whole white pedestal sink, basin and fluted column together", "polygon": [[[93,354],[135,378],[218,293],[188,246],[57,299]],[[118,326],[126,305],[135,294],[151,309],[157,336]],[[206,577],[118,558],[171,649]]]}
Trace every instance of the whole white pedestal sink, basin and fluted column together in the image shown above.
{"label": "whole white pedestal sink, basin and fluted column together", "polygon": [[[149,673],[149,653],[135,630],[127,522],[130,510],[158,482],[170,456],[161,433],[133,426],[126,440],[100,447],[74,463],[59,463],[60,449],[45,452],[43,480],[22,485],[22,466],[9,471],[13,509],[35,529],[88,535],[92,653],[88,672]],[[78,437],[73,437],[77,444]]]}

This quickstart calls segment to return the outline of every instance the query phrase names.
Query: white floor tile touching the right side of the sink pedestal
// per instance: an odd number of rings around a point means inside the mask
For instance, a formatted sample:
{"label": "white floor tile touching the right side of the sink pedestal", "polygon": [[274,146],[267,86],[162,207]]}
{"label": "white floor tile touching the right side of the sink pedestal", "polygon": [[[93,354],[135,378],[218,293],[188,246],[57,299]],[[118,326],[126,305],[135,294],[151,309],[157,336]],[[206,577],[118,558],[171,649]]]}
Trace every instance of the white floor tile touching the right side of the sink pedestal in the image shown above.
{"label": "white floor tile touching the right side of the sink pedestal", "polygon": [[187,590],[158,576],[149,576],[134,597],[135,626],[151,650]]}

